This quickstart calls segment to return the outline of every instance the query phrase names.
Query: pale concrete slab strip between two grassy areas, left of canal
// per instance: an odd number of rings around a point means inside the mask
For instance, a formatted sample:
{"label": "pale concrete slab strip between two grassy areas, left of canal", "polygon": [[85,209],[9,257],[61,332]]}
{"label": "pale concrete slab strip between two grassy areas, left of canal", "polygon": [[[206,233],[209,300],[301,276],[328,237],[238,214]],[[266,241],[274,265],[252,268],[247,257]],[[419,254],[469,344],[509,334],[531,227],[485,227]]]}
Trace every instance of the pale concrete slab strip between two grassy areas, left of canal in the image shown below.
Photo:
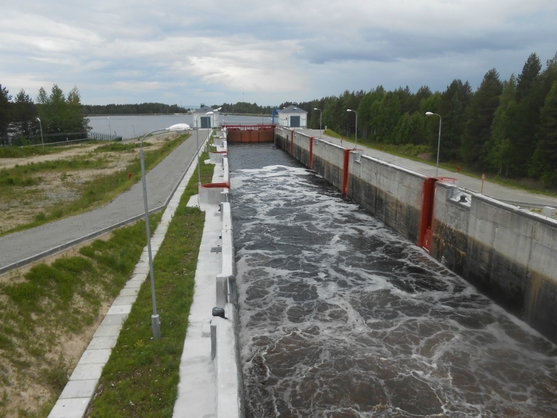
{"label": "pale concrete slab strip between two grassy areas, left of canal", "polygon": [[[203,149],[209,137],[210,134],[207,135],[200,149]],[[197,167],[197,164],[194,164],[194,162],[196,163],[196,158],[189,164],[185,175],[175,187],[171,198],[168,199],[168,206],[166,206],[162,219],[152,235],[151,249],[153,258],[155,258],[157,251],[162,245],[168,230],[168,224],[170,224],[180,203],[180,198]],[[132,277],[127,281],[122,291],[120,291],[120,295],[116,297],[101,325],[93,334],[91,343],[89,343],[83,355],[81,355],[68,384],[65,385],[48,418],[81,418],[84,416],[91,398],[93,398],[97,389],[102,368],[107,364],[112,348],[116,346],[116,340],[118,340],[124,320],[132,310],[132,304],[136,300],[141,284],[148,277],[149,258],[147,251],[146,246],[132,272]]]}

